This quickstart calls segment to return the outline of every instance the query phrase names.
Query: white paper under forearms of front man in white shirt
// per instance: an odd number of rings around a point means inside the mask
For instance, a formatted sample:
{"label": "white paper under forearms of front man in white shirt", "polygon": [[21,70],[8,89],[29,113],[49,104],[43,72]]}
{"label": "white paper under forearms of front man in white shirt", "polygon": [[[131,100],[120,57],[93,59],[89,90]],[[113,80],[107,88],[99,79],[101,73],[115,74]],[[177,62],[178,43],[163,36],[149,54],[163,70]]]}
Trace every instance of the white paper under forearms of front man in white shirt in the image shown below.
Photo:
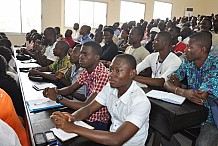
{"label": "white paper under forearms of front man in white shirt", "polygon": [[[82,126],[82,127],[85,127],[85,128],[88,128],[88,129],[94,129],[94,127],[86,124],[85,122],[83,121],[75,121],[74,124],[76,125],[79,125],[79,126]],[[61,129],[57,129],[57,128],[52,128],[50,129],[51,131],[54,132],[54,134],[61,140],[61,141],[67,141],[71,138],[74,138],[76,136],[78,136],[77,134],[75,133],[67,133]]]}

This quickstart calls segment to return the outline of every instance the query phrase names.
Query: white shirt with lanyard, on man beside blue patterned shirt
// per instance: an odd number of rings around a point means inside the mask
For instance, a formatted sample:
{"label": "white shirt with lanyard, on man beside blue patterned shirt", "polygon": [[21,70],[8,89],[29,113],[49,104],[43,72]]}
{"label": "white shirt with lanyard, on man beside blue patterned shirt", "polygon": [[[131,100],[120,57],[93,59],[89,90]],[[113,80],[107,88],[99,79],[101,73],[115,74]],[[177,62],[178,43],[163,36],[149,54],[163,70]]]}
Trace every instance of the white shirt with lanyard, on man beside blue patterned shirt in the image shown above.
{"label": "white shirt with lanyard, on man beside blue patterned shirt", "polygon": [[137,65],[137,74],[144,69],[151,67],[152,78],[164,78],[165,80],[168,80],[169,75],[177,70],[182,63],[181,59],[172,52],[169,53],[162,63],[158,62],[158,56],[159,52],[148,55],[141,63]]}

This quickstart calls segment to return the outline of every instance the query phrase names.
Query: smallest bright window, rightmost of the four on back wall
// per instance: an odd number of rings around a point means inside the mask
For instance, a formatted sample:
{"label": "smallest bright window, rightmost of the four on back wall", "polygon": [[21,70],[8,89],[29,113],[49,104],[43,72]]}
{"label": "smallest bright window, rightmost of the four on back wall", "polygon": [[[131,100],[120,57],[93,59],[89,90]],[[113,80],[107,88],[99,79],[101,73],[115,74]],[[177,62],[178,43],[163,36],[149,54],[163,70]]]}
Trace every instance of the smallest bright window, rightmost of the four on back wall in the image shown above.
{"label": "smallest bright window, rightmost of the four on back wall", "polygon": [[161,20],[165,20],[166,18],[171,19],[171,12],[172,12],[172,4],[165,3],[165,2],[154,2],[154,14],[153,18]]}

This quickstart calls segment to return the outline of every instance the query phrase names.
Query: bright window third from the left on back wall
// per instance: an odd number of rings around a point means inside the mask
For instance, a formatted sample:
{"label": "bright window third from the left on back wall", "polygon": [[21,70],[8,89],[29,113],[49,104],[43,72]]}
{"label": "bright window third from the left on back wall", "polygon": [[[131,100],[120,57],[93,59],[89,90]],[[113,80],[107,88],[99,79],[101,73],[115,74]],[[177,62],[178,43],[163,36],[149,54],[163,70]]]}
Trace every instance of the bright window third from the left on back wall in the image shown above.
{"label": "bright window third from the left on back wall", "polygon": [[138,22],[145,18],[145,4],[121,1],[120,22]]}

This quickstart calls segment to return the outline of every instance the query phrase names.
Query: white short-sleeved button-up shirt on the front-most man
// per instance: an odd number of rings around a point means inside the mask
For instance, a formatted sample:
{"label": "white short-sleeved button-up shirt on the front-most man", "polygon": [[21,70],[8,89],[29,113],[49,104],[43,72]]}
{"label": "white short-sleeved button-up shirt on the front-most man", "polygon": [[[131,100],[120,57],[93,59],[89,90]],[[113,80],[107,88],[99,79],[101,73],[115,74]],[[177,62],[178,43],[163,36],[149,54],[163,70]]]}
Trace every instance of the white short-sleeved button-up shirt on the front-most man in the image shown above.
{"label": "white short-sleeved button-up shirt on the front-most man", "polygon": [[111,115],[110,131],[115,132],[125,121],[131,122],[139,130],[123,145],[144,146],[148,135],[150,101],[135,81],[120,98],[117,95],[118,90],[107,83],[95,98],[98,103],[107,107]]}

